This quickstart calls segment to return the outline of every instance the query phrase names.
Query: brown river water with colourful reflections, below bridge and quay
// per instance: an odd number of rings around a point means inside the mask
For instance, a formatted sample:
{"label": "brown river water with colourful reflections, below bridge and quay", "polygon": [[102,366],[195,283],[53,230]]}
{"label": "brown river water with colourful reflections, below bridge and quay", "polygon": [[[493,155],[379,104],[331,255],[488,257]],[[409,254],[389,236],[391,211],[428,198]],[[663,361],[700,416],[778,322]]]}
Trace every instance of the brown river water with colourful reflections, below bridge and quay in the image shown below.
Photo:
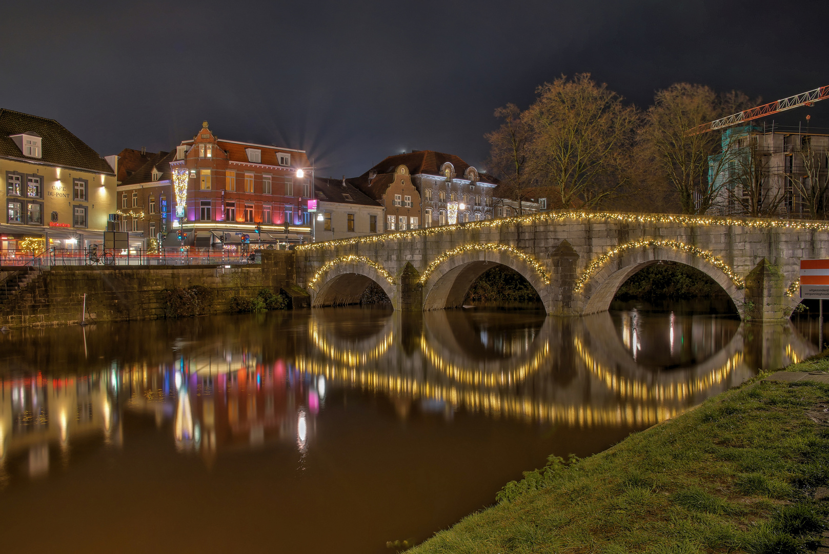
{"label": "brown river water with colourful reflections, below bridge and quay", "polygon": [[2,333],[3,551],[395,552],[548,454],[599,452],[817,351],[808,318],[613,308]]}

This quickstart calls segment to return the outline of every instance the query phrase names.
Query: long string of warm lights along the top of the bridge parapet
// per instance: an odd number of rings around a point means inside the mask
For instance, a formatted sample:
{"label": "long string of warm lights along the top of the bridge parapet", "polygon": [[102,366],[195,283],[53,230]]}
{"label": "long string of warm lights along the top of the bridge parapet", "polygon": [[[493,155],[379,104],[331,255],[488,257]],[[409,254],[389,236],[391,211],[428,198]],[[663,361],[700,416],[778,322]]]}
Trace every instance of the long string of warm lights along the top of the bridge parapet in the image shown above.
{"label": "long string of warm lights along the top of the bridge parapet", "polygon": [[414,231],[396,231],[377,235],[359,236],[337,241],[314,242],[298,245],[296,250],[318,250],[330,246],[370,244],[378,241],[396,241],[398,239],[431,236],[449,231],[492,229],[511,225],[537,225],[554,223],[566,219],[601,220],[629,224],[676,223],[681,226],[737,226],[752,229],[793,229],[805,231],[829,231],[829,221],[802,221],[782,219],[748,219],[739,217],[680,216],[671,214],[631,214],[609,211],[543,211],[529,216],[501,217],[482,221],[469,221],[456,225],[424,227]]}

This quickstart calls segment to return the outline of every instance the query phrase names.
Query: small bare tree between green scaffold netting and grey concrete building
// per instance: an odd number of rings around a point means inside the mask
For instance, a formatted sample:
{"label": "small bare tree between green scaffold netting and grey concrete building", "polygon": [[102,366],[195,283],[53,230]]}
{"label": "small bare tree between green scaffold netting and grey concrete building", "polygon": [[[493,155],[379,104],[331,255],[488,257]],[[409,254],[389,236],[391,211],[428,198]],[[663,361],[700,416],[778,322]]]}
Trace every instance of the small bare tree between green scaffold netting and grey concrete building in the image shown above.
{"label": "small bare tree between green scaffold netting and grey concrete building", "polygon": [[[747,146],[734,148],[735,154],[728,171],[727,197],[730,203],[740,207],[745,216],[764,217],[777,213],[785,199],[785,190],[769,187],[769,156],[754,143],[753,137]],[[741,139],[741,140],[743,140]]]}

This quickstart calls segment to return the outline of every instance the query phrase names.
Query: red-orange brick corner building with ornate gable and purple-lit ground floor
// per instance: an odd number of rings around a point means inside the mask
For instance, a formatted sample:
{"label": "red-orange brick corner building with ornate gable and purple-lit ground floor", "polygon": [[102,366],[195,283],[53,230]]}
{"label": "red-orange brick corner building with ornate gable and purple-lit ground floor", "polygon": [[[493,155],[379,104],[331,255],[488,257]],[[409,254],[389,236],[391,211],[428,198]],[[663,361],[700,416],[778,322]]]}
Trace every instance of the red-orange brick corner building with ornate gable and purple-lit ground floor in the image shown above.
{"label": "red-orange brick corner building with ornate gable and purple-lit ground floor", "polygon": [[[204,122],[173,154],[171,172],[188,176],[172,221],[186,231],[186,245],[226,246],[238,241],[236,233],[259,241],[257,225],[263,244],[310,241],[310,172],[303,172],[310,163],[303,150],[218,139]],[[178,201],[171,203],[175,213]]]}

